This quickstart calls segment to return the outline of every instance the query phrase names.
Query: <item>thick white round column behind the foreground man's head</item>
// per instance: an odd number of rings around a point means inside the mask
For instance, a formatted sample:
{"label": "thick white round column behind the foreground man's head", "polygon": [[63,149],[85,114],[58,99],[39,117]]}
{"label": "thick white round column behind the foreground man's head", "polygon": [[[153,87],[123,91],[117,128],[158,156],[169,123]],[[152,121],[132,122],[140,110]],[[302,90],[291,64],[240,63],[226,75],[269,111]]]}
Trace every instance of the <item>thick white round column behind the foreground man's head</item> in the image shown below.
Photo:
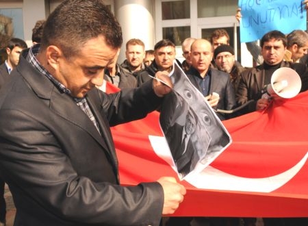
{"label": "thick white round column behind the foreground man's head", "polygon": [[153,0],[116,0],[114,14],[122,27],[123,45],[118,62],[125,60],[125,44],[131,38],[139,38],[145,49],[155,45],[155,28],[153,18]]}

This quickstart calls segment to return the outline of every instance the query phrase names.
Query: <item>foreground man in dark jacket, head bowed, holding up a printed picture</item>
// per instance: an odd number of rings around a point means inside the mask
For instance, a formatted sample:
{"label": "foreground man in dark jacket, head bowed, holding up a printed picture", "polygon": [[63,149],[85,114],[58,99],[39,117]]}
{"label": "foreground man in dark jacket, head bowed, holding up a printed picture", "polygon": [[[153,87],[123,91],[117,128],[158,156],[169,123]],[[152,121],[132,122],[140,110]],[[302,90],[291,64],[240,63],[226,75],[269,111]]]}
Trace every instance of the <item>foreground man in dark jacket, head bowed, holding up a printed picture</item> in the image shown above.
{"label": "foreground man in dark jacket, head bowed, holding up a printed picture", "polygon": [[110,126],[146,116],[170,92],[156,79],[111,95],[95,88],[121,44],[101,0],[66,0],[47,18],[41,45],[23,51],[0,90],[0,177],[14,225],[158,225],[183,201],[172,177],[120,186]]}

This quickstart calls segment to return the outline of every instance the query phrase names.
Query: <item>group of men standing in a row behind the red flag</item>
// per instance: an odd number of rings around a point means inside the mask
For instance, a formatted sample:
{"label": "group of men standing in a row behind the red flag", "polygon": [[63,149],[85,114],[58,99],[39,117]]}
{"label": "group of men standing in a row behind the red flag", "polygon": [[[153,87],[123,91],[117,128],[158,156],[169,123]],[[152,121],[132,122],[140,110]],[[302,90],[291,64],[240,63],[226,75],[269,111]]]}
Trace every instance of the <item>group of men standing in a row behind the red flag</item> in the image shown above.
{"label": "group of men standing in a row behind the red flag", "polygon": [[[134,43],[134,44],[131,44]],[[213,32],[210,40],[203,38],[186,38],[183,40],[182,50],[185,60],[179,62],[175,58],[175,44],[170,40],[159,40],[154,46],[153,62],[144,64],[144,43],[139,39],[127,42],[127,49],[138,49],[126,52],[126,60],[118,65],[118,78],[130,72],[131,79],[136,79],[130,88],[141,86],[151,80],[157,71],[170,73],[174,61],[183,68],[188,79],[203,93],[205,100],[211,107],[221,110],[233,110],[238,106],[249,103],[232,114],[217,112],[221,120],[240,116],[254,110],[264,109],[270,99],[262,99],[264,87],[270,84],[270,77],[277,68],[290,67],[300,75],[302,89],[307,90],[307,59],[308,34],[302,30],[294,30],[290,34],[283,34],[278,30],[268,32],[261,38],[259,54],[261,64],[253,68],[245,68],[235,60],[235,51],[229,44],[229,34],[224,29]],[[134,47],[133,47],[134,46]],[[121,68],[126,69],[121,73]],[[105,73],[106,80],[107,73]],[[129,75],[127,75],[129,77]],[[120,79],[118,79],[119,81]],[[118,83],[112,82],[115,86]],[[128,84],[127,84],[128,85]],[[213,93],[219,98],[213,99]]]}

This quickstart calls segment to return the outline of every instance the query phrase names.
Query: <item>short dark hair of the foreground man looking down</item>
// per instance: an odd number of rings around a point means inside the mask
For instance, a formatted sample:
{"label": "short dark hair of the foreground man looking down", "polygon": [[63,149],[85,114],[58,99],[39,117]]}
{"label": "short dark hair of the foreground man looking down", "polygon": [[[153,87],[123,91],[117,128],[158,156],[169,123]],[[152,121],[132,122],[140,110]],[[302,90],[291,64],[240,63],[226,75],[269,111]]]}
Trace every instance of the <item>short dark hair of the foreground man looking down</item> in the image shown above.
{"label": "short dark hair of the foreground man looking down", "polygon": [[112,49],[123,42],[120,24],[103,1],[64,0],[47,18],[41,49],[56,45],[69,58],[98,36],[103,36]]}

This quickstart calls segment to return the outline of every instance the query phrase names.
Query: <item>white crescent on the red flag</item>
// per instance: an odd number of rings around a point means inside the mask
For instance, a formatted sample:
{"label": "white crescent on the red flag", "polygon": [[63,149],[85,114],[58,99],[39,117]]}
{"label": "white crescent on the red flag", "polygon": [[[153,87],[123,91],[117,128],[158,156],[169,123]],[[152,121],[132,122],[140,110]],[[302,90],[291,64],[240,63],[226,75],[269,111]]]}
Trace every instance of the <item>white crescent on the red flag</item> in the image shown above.
{"label": "white crescent on the red flag", "polygon": [[[149,140],[155,153],[175,169],[166,139],[161,136],[149,136]],[[292,179],[304,166],[307,158],[308,153],[306,153],[303,159],[301,159],[295,166],[272,177],[238,177],[236,175],[224,173],[213,166],[207,166],[200,173],[192,173],[185,177],[185,181],[188,181],[188,183],[196,188],[202,189],[272,192],[286,184],[287,181],[290,181],[290,179]]]}

